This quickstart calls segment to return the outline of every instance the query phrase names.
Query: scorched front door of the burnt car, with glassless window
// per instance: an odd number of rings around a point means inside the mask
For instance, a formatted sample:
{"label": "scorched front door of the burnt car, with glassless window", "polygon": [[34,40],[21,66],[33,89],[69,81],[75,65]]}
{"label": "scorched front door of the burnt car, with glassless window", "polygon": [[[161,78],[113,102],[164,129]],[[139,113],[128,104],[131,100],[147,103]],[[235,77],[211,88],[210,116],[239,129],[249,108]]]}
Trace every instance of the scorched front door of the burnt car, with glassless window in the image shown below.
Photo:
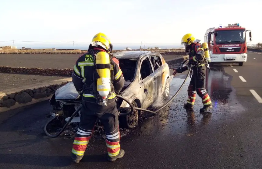
{"label": "scorched front door of the burnt car, with glassless window", "polygon": [[157,98],[156,74],[148,56],[140,61],[140,87],[141,105],[143,108],[150,106]]}

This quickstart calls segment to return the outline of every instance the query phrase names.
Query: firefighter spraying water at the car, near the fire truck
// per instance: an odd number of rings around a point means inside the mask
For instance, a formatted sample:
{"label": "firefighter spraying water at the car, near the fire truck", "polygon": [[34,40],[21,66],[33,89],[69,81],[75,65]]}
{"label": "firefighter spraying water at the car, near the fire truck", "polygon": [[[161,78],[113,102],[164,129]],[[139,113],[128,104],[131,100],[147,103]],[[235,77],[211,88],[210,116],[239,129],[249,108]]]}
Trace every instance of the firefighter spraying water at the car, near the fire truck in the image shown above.
{"label": "firefighter spraying water at the car, near the fire truck", "polygon": [[200,112],[207,112],[209,109],[212,109],[212,103],[204,87],[206,74],[206,65],[204,61],[205,52],[201,44],[198,43],[199,41],[194,42],[194,40],[196,40],[195,37],[190,33],[182,37],[181,45],[184,45],[186,52],[189,52],[189,63],[184,67],[178,68],[176,72],[182,73],[189,69],[189,64],[192,64],[193,75],[188,86],[188,99],[184,107],[186,109],[193,109],[197,94],[202,98],[202,103],[204,105],[204,107],[200,109]]}

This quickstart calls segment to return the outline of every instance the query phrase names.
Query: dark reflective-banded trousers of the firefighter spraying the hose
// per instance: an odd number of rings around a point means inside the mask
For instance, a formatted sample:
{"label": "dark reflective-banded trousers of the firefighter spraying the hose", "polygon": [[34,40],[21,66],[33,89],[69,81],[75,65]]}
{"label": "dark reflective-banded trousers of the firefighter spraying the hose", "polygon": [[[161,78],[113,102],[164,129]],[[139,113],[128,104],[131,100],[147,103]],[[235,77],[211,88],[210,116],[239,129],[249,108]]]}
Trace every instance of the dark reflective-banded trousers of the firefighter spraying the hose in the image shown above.
{"label": "dark reflective-banded trousers of the firefighter spraying the hose", "polygon": [[205,89],[205,74],[206,74],[206,67],[193,67],[193,74],[191,81],[189,83],[187,94],[187,104],[194,105],[196,100],[196,94],[202,99],[202,103],[204,107],[210,106],[211,100],[207,91]]}

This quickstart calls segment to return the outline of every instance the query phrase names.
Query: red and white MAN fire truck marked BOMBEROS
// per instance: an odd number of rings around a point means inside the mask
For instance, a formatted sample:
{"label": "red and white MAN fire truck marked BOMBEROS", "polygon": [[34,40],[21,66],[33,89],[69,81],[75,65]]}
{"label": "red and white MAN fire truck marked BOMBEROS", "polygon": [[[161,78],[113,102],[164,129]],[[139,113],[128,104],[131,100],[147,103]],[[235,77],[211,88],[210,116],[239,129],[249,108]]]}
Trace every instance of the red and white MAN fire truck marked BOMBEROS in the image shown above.
{"label": "red and white MAN fire truck marked BOMBEROS", "polygon": [[210,65],[238,63],[242,66],[247,59],[246,32],[249,32],[249,42],[251,42],[251,31],[239,26],[238,23],[207,29],[204,42],[209,47]]}

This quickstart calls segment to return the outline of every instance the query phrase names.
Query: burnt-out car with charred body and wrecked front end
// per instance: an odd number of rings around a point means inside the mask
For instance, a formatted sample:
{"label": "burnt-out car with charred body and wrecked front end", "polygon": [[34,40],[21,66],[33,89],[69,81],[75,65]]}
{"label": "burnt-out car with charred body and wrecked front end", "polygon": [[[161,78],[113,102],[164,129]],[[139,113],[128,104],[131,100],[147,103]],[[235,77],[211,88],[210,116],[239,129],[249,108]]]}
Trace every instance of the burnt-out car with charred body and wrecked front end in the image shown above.
{"label": "burnt-out car with charred body and wrecked front end", "polygon": [[[119,60],[125,84],[119,95],[126,98],[134,107],[147,109],[157,98],[167,98],[170,82],[169,67],[158,52],[124,51],[112,53]],[[58,88],[50,99],[53,111],[61,122],[68,121],[73,112],[81,105],[81,97],[73,82]],[[117,99],[117,107],[129,107],[126,101]],[[130,110],[123,110],[130,111]],[[122,128],[132,128],[138,123],[139,110],[127,116],[119,116]],[[81,111],[71,122],[80,122]]]}

